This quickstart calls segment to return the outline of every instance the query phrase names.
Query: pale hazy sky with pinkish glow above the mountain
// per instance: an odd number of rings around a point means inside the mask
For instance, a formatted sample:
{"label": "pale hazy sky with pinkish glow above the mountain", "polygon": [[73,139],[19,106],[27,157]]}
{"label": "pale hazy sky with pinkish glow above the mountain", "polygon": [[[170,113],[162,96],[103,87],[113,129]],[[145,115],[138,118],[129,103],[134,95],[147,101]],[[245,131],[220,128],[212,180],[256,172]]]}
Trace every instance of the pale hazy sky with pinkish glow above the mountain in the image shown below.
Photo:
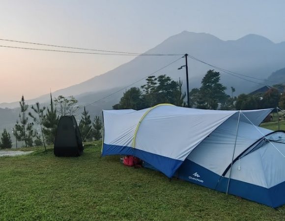
{"label": "pale hazy sky with pinkish glow above the mountain", "polygon": [[[254,33],[279,43],[284,10],[284,0],[0,0],[0,39],[136,53],[184,30],[222,40]],[[0,103],[84,82],[133,58],[0,47]]]}

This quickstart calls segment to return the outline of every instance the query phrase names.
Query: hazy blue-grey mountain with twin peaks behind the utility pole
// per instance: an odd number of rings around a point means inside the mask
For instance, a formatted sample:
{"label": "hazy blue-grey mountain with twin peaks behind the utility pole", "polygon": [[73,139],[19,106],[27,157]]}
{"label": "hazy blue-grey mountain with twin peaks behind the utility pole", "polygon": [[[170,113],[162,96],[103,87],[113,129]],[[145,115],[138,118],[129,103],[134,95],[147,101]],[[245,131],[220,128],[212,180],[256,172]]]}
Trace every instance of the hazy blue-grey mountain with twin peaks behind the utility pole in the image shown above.
{"label": "hazy blue-grey mountain with twin peaks behind the utility pole", "polygon": [[[189,55],[193,55],[215,66],[258,79],[267,79],[274,70],[285,66],[285,42],[276,44],[269,39],[256,34],[249,34],[237,40],[223,41],[211,34],[183,31],[169,37],[161,44],[145,53],[182,55],[188,53]],[[54,92],[53,96],[80,95],[81,97],[84,97],[88,93],[96,94],[97,92],[100,92],[102,97],[105,97],[108,95],[107,91],[111,91],[114,88],[123,88],[137,82],[182,55],[137,56],[133,60],[122,64],[105,74],[95,76],[83,83],[60,89]],[[214,68],[190,58],[188,60],[190,88],[199,87],[201,79],[206,71]],[[177,70],[177,67],[184,64],[185,60],[182,58],[167,68],[157,72],[156,75],[167,74],[174,80],[181,78],[185,86],[185,69],[180,71]],[[249,80],[257,81],[254,79]],[[236,95],[250,92],[256,86],[260,86],[256,83],[244,81],[222,72],[221,81],[228,88],[231,86],[235,87]],[[143,83],[144,81],[140,81],[133,86],[140,86]],[[110,100],[111,97],[108,97],[107,99]],[[43,103],[48,102],[48,100],[49,95],[43,95],[36,99],[29,100],[28,104],[33,104],[36,101]],[[0,104],[0,107],[18,107],[18,102]]]}

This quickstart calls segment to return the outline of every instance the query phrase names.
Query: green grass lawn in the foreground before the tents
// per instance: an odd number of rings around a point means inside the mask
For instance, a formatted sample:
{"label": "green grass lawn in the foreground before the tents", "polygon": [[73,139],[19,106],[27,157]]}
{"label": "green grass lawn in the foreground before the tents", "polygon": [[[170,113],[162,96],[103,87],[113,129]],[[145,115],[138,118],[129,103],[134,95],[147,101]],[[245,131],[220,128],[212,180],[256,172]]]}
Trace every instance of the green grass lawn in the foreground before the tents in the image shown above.
{"label": "green grass lawn in the foreground before the tents", "polygon": [[78,158],[52,149],[0,158],[0,221],[213,220],[282,221],[274,210],[145,168],[103,157],[101,143]]}

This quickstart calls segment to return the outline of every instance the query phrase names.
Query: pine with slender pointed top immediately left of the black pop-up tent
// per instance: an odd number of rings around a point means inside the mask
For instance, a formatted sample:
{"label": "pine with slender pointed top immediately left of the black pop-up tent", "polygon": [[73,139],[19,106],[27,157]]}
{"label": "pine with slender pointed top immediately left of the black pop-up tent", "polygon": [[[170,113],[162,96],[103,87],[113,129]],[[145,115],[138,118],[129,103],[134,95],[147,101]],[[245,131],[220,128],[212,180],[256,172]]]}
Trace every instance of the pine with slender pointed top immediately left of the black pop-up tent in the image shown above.
{"label": "pine with slender pointed top immediately left of the black pop-up tent", "polygon": [[47,144],[52,144],[55,141],[57,134],[57,124],[58,124],[57,109],[54,108],[52,93],[51,93],[51,107],[47,109],[47,113],[43,120],[43,133],[45,135]]}

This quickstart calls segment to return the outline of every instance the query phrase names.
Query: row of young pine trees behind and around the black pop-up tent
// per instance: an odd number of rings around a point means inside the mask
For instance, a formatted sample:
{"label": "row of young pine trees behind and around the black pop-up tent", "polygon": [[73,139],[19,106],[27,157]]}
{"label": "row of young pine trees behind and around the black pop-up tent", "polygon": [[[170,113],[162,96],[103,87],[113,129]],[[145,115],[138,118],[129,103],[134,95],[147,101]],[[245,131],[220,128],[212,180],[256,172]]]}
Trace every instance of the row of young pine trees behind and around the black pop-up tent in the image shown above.
{"label": "row of young pine trees behind and around the black pop-up tent", "polygon": [[[17,141],[23,141],[25,147],[44,146],[54,143],[57,134],[57,124],[59,118],[65,115],[74,115],[78,110],[78,101],[73,97],[58,96],[52,99],[49,107],[40,107],[39,102],[29,106],[26,104],[24,96],[20,101],[20,114],[13,128],[13,135]],[[35,129],[39,128],[39,131]],[[102,138],[102,123],[99,116],[95,116],[91,122],[88,111],[82,112],[79,122],[82,139],[84,141],[99,140]],[[6,129],[3,130],[0,139],[0,149],[11,148],[12,141]]]}

